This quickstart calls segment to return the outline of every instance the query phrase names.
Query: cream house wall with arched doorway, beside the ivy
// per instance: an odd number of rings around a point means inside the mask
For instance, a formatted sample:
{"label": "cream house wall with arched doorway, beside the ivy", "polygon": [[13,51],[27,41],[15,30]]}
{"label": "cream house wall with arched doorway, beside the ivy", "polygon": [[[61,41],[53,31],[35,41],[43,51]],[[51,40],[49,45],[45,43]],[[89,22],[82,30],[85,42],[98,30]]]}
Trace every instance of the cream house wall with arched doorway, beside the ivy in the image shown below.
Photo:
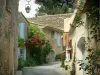
{"label": "cream house wall with arched doorway, beside the ivy", "polygon": [[[86,23],[85,15],[82,15],[83,22]],[[84,24],[85,25],[85,24]],[[75,56],[75,67],[76,67],[76,75],[85,75],[85,71],[83,69],[79,70],[79,64],[85,63],[85,27],[79,26],[76,28],[71,27],[69,30],[69,39],[72,40],[71,49],[73,50],[72,59],[69,59],[67,62],[70,63],[69,67],[71,67],[74,56]],[[70,49],[67,49],[69,51]],[[66,53],[67,54],[67,53]],[[71,67],[72,68],[72,67]]]}

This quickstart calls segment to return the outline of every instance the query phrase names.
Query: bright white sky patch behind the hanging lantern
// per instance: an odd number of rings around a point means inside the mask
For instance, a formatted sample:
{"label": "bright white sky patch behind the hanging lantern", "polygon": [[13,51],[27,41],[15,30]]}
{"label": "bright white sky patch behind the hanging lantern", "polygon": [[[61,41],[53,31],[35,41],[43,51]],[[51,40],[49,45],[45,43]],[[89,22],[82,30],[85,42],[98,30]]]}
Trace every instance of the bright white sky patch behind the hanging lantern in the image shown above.
{"label": "bright white sky patch behind the hanging lantern", "polygon": [[36,9],[39,7],[39,5],[35,4],[35,0],[31,0],[30,1],[30,5],[31,5],[31,11],[30,13],[26,13],[26,10],[25,10],[25,5],[28,4],[26,0],[19,0],[19,7],[18,7],[18,11],[19,12],[22,12],[23,15],[26,17],[26,18],[32,18],[35,16],[36,14]]}

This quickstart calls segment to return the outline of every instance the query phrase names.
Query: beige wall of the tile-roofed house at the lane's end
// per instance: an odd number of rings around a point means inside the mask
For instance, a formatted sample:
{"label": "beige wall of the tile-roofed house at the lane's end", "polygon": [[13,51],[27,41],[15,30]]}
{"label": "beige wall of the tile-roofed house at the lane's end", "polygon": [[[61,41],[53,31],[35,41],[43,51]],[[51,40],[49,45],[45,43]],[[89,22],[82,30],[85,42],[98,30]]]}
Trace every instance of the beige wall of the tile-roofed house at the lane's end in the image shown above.
{"label": "beige wall of the tile-roofed house at the lane's end", "polygon": [[[54,30],[51,30],[51,29],[47,29],[47,28],[43,29],[45,38],[50,41],[52,49],[53,49],[55,55],[61,54],[62,53],[62,50],[61,50],[62,45],[61,46],[57,45],[57,40],[54,39],[54,35],[52,34],[52,31],[54,33],[57,32],[57,31],[54,31]],[[61,34],[61,36],[62,36],[62,32],[57,32],[57,33]],[[61,38],[60,38],[60,40],[61,40]],[[62,42],[60,42],[60,43],[62,44]]]}

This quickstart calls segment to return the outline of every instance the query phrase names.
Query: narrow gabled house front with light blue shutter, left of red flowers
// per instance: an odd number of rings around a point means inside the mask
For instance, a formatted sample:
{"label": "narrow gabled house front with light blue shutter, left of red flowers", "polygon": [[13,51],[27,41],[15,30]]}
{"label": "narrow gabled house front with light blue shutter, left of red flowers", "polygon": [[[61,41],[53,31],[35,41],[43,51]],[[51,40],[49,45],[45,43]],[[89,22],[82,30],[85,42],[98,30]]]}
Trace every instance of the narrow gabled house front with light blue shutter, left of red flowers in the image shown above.
{"label": "narrow gabled house front with light blue shutter, left of red flowers", "polygon": [[[25,16],[19,12],[18,14],[19,18],[19,36],[20,38],[27,40],[28,39],[28,25],[29,22],[25,18]],[[22,57],[24,60],[26,60],[26,48],[18,48],[18,57]]]}

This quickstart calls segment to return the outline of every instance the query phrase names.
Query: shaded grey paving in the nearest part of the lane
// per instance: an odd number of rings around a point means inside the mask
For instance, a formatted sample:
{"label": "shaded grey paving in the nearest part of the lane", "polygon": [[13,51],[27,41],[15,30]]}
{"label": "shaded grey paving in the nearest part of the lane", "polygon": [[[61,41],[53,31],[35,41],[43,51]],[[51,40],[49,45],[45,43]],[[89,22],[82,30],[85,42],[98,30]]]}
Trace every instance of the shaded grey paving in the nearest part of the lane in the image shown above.
{"label": "shaded grey paving in the nearest part of the lane", "polygon": [[52,68],[24,68],[23,75],[61,75]]}

